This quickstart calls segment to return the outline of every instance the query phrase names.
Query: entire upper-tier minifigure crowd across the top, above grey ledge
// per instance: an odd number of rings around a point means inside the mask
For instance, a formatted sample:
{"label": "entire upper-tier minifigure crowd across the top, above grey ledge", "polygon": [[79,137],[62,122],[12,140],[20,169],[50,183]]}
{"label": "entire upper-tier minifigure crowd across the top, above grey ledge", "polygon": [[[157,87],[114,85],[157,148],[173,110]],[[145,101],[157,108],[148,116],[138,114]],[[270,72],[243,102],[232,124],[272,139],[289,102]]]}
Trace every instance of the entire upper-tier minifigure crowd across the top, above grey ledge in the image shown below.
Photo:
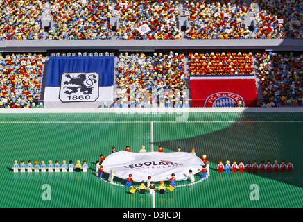
{"label": "entire upper-tier minifigure crowd across the top, above grey ledge", "polygon": [[[189,19],[187,39],[302,38],[302,3],[288,0],[5,0],[0,10],[0,40],[178,40],[179,17]],[[49,13],[49,15],[47,15]],[[46,15],[45,15],[46,14]],[[42,18],[51,19],[50,30]],[[119,19],[112,32],[110,19]],[[245,19],[253,26],[243,26]],[[244,22],[245,23],[245,22]],[[150,30],[139,33],[142,25]]]}

